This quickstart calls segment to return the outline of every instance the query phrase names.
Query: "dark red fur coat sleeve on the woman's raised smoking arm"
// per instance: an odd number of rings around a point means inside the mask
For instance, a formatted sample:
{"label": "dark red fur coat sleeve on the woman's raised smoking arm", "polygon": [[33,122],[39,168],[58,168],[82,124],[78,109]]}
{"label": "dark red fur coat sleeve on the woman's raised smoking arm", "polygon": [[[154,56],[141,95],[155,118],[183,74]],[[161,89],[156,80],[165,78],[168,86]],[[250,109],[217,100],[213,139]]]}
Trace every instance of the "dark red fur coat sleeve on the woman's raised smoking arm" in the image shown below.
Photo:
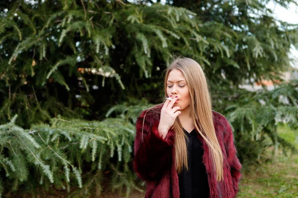
{"label": "dark red fur coat sleeve on the woman's raised smoking arm", "polygon": [[[135,157],[133,167],[137,175],[145,181],[158,181],[170,170],[171,151],[174,144],[174,133],[169,130],[163,139],[158,132],[158,120],[151,111],[141,112],[136,121]],[[144,117],[146,116],[146,119]],[[144,126],[143,126],[144,121]],[[144,128],[143,128],[144,127]],[[143,129],[143,131],[142,131]]]}

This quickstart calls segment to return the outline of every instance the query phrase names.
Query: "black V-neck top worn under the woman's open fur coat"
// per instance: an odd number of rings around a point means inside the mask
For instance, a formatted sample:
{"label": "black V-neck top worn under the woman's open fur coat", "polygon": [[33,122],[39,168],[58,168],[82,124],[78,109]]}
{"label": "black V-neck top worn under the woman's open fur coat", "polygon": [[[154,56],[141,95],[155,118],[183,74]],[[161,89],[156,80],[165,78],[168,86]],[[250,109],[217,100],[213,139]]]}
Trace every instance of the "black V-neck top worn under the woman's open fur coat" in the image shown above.
{"label": "black V-neck top worn under the woman's open fur coat", "polygon": [[[188,138],[188,171],[184,167],[178,175],[180,198],[209,198],[209,184],[206,167],[203,164],[202,143],[196,130],[188,133],[183,130]],[[186,140],[187,143],[187,140]]]}

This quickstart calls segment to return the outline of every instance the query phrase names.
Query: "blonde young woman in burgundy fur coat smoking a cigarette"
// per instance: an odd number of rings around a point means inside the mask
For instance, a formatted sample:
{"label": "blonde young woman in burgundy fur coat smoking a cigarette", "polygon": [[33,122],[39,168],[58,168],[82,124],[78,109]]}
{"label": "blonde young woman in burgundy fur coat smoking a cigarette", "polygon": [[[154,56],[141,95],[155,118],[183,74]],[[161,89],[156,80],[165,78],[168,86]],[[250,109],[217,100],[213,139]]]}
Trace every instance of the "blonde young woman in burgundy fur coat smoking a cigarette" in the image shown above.
{"label": "blonde young woman in burgundy fur coat smoking a cigarette", "polygon": [[193,59],[166,70],[164,103],[136,122],[137,175],[145,198],[234,198],[241,164],[226,118],[212,110],[206,77]]}

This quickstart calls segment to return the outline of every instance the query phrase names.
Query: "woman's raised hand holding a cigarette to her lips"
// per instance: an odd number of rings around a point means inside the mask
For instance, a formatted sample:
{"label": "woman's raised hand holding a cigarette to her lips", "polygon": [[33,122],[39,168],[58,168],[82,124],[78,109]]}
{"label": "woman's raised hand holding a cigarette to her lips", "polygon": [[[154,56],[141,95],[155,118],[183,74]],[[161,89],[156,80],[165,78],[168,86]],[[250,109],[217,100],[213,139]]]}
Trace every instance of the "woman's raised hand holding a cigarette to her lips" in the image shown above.
{"label": "woman's raised hand holding a cigarette to her lips", "polygon": [[177,98],[172,98],[173,100],[166,100],[160,111],[160,120],[158,125],[158,132],[162,134],[162,138],[164,139],[168,130],[173,126],[176,117],[181,113],[180,106],[174,106]]}

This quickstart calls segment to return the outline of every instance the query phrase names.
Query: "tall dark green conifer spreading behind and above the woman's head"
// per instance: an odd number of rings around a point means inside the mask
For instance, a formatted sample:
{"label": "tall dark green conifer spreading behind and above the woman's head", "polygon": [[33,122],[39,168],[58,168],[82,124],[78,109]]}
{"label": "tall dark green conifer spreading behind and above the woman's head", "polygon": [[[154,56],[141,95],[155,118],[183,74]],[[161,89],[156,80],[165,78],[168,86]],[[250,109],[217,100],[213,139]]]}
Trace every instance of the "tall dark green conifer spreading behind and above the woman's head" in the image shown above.
{"label": "tall dark green conifer spreading behind and above the woman's head", "polygon": [[298,43],[297,27],[273,18],[267,1],[142,2],[5,0],[0,121],[15,113],[24,127],[57,114],[103,119],[128,96],[159,102],[160,71],[175,53],[221,87],[280,79]]}

